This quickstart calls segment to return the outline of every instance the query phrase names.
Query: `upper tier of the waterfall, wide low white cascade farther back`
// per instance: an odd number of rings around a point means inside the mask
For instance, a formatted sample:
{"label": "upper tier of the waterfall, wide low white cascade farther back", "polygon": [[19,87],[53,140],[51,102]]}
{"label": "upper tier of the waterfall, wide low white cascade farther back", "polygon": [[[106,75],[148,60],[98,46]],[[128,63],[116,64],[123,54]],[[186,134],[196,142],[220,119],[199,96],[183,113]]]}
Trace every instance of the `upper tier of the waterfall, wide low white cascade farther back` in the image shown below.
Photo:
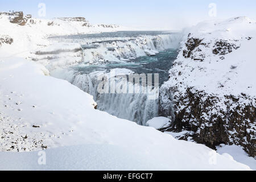
{"label": "upper tier of the waterfall, wide low white cascade farther back", "polygon": [[86,47],[94,46],[94,48],[84,49],[83,60],[84,63],[91,65],[108,64],[141,56],[154,56],[159,51],[179,48],[179,44],[179,34],[147,35],[138,36],[137,38],[123,38],[122,40],[109,39],[94,42],[90,40]]}

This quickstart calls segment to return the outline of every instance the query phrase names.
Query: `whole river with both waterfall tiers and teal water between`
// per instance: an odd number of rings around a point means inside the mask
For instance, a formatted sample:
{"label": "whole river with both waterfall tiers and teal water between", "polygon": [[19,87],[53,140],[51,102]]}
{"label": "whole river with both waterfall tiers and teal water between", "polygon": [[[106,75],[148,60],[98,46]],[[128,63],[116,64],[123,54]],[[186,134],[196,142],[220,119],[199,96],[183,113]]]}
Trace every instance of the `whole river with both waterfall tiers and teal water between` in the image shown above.
{"label": "whole river with both waterfall tiers and teal water between", "polygon": [[[68,80],[73,85],[91,94],[98,109],[119,118],[129,119],[139,125],[158,116],[158,90],[148,85],[135,84],[138,93],[99,93],[101,76],[114,78],[112,87],[123,88],[127,80],[117,75],[133,73],[158,73],[159,86],[168,80],[168,71],[176,59],[179,34],[174,32],[108,32],[102,34],[61,36],[52,39],[59,42],[80,43],[83,48],[83,62],[69,69],[55,69],[52,76]],[[153,85],[156,80],[153,75]],[[147,80],[149,78],[147,77]],[[142,83],[142,80],[141,80]],[[128,82],[134,85],[134,82]],[[128,90],[129,91],[129,90]],[[153,97],[152,96],[157,96]]]}

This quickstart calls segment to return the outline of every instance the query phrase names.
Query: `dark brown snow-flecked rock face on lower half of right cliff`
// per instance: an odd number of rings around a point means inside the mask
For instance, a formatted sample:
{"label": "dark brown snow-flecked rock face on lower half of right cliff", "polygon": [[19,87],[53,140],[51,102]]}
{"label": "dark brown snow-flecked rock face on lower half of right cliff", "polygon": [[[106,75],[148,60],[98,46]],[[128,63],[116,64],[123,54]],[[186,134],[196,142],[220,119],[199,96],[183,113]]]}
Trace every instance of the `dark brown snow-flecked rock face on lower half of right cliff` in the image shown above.
{"label": "dark brown snow-flecked rock face on lower half of right cliff", "polygon": [[[175,92],[175,89],[172,88]],[[247,102],[241,104],[241,101]],[[248,102],[249,101],[249,102]],[[220,107],[220,103],[225,103]],[[174,99],[175,120],[169,131],[192,131],[182,139],[192,137],[197,143],[215,149],[220,144],[237,144],[250,155],[256,156],[256,98],[207,94],[188,88],[185,94]],[[225,107],[225,108],[223,108]],[[166,108],[162,106],[162,108]],[[171,112],[160,110],[161,115]]]}

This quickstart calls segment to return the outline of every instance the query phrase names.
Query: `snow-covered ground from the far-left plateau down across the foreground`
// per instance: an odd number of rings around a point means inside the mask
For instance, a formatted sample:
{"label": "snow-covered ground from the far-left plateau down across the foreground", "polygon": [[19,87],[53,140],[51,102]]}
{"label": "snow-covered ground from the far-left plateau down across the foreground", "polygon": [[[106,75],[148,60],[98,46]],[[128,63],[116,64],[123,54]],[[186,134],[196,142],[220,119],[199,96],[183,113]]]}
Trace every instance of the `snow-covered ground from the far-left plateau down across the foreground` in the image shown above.
{"label": "snow-covered ground from the far-left plateau down across the foreground", "polygon": [[[14,40],[0,47],[0,169],[250,169],[204,145],[94,109],[93,96],[22,58],[27,55],[20,52],[52,34],[43,20],[40,31],[4,16],[0,22],[1,34]],[[57,27],[51,30],[74,33],[73,24],[65,31]],[[46,152],[45,166],[38,150]]]}

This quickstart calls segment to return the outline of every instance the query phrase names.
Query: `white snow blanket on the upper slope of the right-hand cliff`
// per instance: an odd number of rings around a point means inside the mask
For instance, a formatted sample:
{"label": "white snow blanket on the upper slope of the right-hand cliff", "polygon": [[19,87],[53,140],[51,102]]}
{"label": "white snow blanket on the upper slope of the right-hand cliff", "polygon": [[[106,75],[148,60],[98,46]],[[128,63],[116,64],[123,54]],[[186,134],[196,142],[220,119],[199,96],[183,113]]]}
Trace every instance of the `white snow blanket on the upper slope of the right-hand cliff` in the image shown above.
{"label": "white snow blanket on the upper slope of the right-hand cliff", "polygon": [[[201,57],[197,54],[203,53],[204,61],[185,59],[183,44],[175,61],[176,65],[170,71],[171,78],[165,86],[179,85],[181,92],[187,87],[195,87],[197,90],[205,90],[207,93],[220,96],[224,94],[237,96],[241,93],[255,96],[256,82],[251,81],[251,78],[255,77],[254,68],[256,67],[253,55],[256,44],[255,29],[256,22],[243,16],[221,21],[209,20],[185,29],[183,31],[184,41],[190,34],[193,38],[203,39],[203,43],[207,45],[200,45],[192,52],[195,53],[195,58],[199,59]],[[212,49],[214,41],[217,40],[234,43],[240,48],[224,56],[214,55]],[[198,51],[199,49],[201,51]],[[224,57],[224,60],[220,57]]]}

